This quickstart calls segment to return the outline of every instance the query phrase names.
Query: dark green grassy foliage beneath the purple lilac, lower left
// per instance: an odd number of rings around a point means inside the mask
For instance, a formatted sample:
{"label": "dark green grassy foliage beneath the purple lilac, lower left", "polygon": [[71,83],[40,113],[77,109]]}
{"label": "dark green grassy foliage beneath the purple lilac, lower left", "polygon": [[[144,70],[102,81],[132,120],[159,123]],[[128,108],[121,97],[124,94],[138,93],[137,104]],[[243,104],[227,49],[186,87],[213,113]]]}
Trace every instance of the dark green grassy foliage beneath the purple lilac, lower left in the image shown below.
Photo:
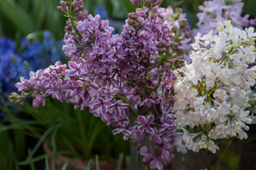
{"label": "dark green grassy foliage beneath the purple lilac, lower left", "polygon": [[[89,113],[88,108],[74,111],[70,103],[50,100],[47,103],[46,107],[37,110],[31,103],[24,103],[21,107],[6,105],[3,109],[9,113],[11,120],[9,125],[0,125],[0,133],[19,130],[23,135],[38,139],[26,160],[18,162],[19,165],[33,164],[49,156],[53,156],[55,162],[56,154],[90,158],[97,153],[101,159],[112,159],[119,152],[128,152],[127,141],[122,140],[122,135],[112,135],[112,129]],[[18,117],[11,115],[14,110],[20,113]],[[52,153],[36,156],[43,142],[48,143]],[[53,166],[51,169],[54,169]]]}

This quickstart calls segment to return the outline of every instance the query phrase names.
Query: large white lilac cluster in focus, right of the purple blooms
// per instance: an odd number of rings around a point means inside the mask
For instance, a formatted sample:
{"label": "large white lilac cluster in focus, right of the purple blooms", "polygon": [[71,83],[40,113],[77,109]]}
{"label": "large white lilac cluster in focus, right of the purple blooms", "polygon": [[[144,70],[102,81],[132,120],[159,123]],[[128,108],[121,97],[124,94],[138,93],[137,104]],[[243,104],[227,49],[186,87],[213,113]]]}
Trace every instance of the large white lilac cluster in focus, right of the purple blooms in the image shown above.
{"label": "large white lilac cluster in focus, right of the purple blooms", "polygon": [[231,21],[218,23],[213,31],[196,36],[192,44],[192,63],[178,70],[176,79],[176,118],[188,149],[208,149],[215,153],[215,140],[238,137],[246,139],[247,125],[255,123],[250,115],[251,86],[255,86],[254,28],[240,30]]}

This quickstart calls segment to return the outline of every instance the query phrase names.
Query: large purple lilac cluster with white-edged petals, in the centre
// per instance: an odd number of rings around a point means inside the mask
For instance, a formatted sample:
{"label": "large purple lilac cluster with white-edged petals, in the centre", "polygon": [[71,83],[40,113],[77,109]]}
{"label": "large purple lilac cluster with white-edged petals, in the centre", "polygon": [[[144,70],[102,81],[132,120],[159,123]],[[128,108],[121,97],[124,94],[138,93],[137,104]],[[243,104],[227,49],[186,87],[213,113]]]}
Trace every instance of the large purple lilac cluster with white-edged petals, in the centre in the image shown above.
{"label": "large purple lilac cluster with white-edged petals, in the centre", "polygon": [[31,94],[38,108],[52,96],[74,103],[75,109],[89,107],[114,127],[114,135],[135,140],[151,169],[164,169],[173,158],[176,132],[174,70],[184,61],[182,48],[171,46],[174,33],[164,24],[161,1],[139,2],[145,6],[128,14],[121,35],[111,35],[108,21],[80,11],[82,1],[60,1],[58,9],[69,16],[63,50],[71,61],[30,72],[30,79],[21,77],[16,84],[21,95],[9,99],[22,103]]}

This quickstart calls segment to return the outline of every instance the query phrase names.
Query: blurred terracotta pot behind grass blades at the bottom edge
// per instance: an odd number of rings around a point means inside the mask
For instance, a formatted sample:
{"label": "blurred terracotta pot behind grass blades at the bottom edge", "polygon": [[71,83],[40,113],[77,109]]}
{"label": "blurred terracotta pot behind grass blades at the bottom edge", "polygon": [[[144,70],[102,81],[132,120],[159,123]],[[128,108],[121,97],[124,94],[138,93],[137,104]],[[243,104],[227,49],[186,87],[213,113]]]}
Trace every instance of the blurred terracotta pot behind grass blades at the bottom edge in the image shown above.
{"label": "blurred terracotta pot behind grass blades at the bottom edge", "polygon": [[[43,150],[46,154],[52,153],[52,150],[46,143],[43,143]],[[51,165],[52,159],[53,157],[48,157],[49,167]],[[70,157],[60,155],[60,154],[56,155],[55,156],[55,162],[57,166],[56,169],[61,168],[65,164],[65,162],[68,162],[68,160],[70,160]],[[75,159],[73,160],[73,162],[70,162],[70,164],[68,164],[68,167],[66,170],[86,170],[88,163],[89,163],[89,159]],[[99,163],[100,163],[100,170],[117,169],[117,160],[107,160],[107,161],[99,160]],[[124,165],[122,169],[125,169]],[[91,170],[96,170],[95,162],[93,162],[91,166]]]}

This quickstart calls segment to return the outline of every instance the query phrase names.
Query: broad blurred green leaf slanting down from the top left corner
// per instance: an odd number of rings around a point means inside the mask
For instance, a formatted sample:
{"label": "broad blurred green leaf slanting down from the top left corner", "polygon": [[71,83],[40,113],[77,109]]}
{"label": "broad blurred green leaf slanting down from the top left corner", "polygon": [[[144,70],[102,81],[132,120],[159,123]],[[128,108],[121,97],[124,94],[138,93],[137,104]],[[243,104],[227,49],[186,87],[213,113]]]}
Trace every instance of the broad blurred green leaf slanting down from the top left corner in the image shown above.
{"label": "broad blurred green leaf slanting down from the top left corner", "polygon": [[28,13],[21,8],[15,1],[1,0],[0,1],[0,13],[20,30],[23,35],[32,33],[35,30],[35,26],[28,16]]}

